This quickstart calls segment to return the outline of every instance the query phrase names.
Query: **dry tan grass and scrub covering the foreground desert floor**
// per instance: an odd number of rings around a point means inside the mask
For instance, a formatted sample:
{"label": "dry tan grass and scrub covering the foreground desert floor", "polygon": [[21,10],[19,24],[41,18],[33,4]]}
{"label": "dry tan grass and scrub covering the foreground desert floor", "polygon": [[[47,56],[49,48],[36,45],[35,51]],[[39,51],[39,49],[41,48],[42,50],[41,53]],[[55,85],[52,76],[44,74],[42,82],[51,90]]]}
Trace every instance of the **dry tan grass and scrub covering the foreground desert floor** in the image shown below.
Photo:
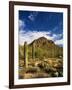
{"label": "dry tan grass and scrub covering the foreground desert floor", "polygon": [[29,60],[27,68],[24,67],[24,60],[19,60],[19,67],[20,79],[63,76],[63,60],[59,58]]}

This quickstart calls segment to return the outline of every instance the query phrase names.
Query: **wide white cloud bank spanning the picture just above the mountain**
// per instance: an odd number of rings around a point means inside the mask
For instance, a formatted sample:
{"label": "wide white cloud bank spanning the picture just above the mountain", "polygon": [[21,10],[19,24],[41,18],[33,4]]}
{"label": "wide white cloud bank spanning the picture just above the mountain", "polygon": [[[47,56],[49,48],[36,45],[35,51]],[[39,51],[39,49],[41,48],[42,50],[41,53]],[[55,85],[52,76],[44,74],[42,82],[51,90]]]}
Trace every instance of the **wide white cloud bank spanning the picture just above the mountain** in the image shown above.
{"label": "wide white cloud bank spanning the picture just above the mountain", "polygon": [[58,39],[62,36],[62,34],[52,34],[49,31],[19,31],[19,44],[23,45],[26,41],[30,44],[33,40],[38,39],[40,37],[45,37],[48,40],[54,41],[56,45],[63,45],[63,39]]}

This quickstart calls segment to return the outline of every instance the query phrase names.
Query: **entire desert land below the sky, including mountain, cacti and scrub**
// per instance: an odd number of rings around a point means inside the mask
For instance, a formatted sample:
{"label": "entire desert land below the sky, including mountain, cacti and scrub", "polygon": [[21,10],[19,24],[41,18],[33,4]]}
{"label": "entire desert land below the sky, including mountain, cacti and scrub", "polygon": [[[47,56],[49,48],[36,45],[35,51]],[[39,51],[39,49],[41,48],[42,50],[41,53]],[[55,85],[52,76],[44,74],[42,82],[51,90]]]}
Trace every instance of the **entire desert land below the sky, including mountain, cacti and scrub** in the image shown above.
{"label": "entire desert land below the sky, including mountain, cacti and scrub", "polygon": [[63,77],[63,48],[41,37],[19,46],[19,79]]}

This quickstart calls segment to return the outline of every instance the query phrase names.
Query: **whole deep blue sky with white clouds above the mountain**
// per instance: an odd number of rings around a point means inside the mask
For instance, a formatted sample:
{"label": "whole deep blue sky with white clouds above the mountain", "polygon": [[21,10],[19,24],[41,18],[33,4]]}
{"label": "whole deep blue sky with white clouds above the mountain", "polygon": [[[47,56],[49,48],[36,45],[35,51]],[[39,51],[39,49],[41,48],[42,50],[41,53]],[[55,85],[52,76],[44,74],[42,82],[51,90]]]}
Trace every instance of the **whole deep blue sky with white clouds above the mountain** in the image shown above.
{"label": "whole deep blue sky with white clouds above the mountain", "polygon": [[63,46],[63,13],[19,11],[19,44],[39,37]]}

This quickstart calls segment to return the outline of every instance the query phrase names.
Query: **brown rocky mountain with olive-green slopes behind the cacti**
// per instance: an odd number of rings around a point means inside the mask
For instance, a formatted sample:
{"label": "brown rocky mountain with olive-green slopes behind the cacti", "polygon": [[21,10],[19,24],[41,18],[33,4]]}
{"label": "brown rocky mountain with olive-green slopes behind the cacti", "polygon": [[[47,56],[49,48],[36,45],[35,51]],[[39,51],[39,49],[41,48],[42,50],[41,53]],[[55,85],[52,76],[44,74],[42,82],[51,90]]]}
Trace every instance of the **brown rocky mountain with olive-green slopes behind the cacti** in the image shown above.
{"label": "brown rocky mountain with olive-green slopes behind the cacti", "polygon": [[[28,58],[32,58],[32,52],[34,52],[35,58],[40,60],[63,56],[63,48],[45,37],[40,37],[28,45]],[[24,58],[24,46],[19,46],[19,56]]]}

